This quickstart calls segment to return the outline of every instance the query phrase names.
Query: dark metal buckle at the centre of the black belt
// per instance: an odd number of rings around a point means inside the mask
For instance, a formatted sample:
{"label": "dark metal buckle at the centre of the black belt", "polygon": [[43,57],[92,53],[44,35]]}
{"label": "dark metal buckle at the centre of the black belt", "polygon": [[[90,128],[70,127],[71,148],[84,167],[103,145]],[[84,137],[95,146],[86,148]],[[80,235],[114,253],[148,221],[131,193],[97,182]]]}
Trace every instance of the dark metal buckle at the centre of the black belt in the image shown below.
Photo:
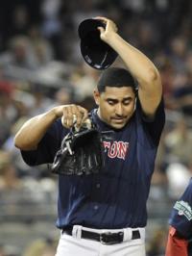
{"label": "dark metal buckle at the centre of the black belt", "polygon": [[[115,244],[115,243],[121,243],[123,242],[123,232],[118,232],[118,233],[111,233],[111,232],[106,232],[100,234],[100,242],[103,244]],[[112,239],[111,239],[112,238]]]}

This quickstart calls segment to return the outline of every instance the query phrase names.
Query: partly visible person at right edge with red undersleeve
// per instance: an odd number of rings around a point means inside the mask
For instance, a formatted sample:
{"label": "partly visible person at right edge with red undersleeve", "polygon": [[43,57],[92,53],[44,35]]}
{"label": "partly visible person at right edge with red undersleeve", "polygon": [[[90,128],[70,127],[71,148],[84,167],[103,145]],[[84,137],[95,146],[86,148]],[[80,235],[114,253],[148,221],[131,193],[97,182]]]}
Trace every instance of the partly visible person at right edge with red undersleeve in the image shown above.
{"label": "partly visible person at right edge with red undersleeve", "polygon": [[166,256],[192,255],[192,178],[175,203],[169,223]]}

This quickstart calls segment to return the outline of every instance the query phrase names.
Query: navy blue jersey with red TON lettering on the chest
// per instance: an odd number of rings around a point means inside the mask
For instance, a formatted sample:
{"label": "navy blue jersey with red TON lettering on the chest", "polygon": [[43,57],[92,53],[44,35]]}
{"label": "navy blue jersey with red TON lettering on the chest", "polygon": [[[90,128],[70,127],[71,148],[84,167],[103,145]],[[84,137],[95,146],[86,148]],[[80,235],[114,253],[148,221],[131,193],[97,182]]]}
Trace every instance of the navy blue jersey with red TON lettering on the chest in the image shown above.
{"label": "navy blue jersey with red TON lettering on the chest", "polygon": [[[92,111],[101,131],[111,131]],[[144,227],[146,201],[154,171],[156,150],[165,122],[161,102],[153,120],[142,115],[139,101],[121,130],[113,130],[112,141],[104,141],[106,166],[87,176],[59,176],[59,228],[80,224],[92,228]],[[60,141],[68,132],[60,119],[40,141],[35,151],[22,151],[29,165],[52,163]]]}

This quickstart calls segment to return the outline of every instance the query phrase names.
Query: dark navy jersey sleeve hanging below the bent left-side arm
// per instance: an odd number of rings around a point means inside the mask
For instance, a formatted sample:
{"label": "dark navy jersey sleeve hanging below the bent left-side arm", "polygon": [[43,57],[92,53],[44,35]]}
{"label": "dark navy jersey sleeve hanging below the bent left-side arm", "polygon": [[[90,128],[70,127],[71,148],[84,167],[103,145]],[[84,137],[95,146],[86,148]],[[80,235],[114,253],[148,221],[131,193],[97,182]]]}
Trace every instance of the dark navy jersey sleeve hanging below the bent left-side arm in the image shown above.
{"label": "dark navy jersey sleeve hanging below the bent left-side arm", "polygon": [[58,119],[47,130],[36,150],[21,150],[25,163],[29,166],[53,163],[55,154],[60,148],[61,140],[66,133],[67,129],[62,126],[60,119]]}

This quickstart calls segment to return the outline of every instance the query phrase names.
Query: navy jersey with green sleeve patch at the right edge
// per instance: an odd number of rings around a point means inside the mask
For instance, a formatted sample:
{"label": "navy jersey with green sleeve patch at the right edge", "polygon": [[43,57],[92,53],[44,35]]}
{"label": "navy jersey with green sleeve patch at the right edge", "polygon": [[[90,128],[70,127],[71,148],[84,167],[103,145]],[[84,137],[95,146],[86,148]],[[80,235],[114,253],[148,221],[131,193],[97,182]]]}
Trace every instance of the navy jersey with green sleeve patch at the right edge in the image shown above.
{"label": "navy jersey with green sleeve patch at the right edge", "polygon": [[169,223],[186,239],[192,239],[192,179],[175,203]]}

